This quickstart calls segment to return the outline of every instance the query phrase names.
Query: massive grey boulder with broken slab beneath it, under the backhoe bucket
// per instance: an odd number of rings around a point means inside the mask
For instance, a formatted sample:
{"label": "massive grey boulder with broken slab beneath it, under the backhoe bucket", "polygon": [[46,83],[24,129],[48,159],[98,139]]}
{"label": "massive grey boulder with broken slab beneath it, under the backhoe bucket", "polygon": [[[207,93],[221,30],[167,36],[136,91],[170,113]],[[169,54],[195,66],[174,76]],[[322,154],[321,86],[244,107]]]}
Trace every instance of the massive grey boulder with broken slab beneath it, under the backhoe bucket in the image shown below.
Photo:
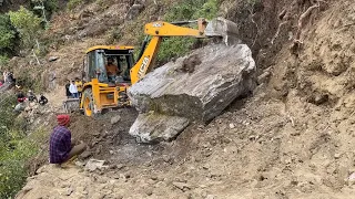
{"label": "massive grey boulder with broken slab beneath it, under the backhoe bucket", "polygon": [[[254,74],[255,62],[245,44],[209,45],[155,69],[129,90],[133,105],[143,113],[130,134],[143,143],[166,140],[166,128],[179,129],[179,134],[187,126],[187,122],[171,123],[175,117],[209,122],[254,88]],[[159,115],[154,119],[144,114],[152,111]],[[169,125],[158,125],[166,122]]]}

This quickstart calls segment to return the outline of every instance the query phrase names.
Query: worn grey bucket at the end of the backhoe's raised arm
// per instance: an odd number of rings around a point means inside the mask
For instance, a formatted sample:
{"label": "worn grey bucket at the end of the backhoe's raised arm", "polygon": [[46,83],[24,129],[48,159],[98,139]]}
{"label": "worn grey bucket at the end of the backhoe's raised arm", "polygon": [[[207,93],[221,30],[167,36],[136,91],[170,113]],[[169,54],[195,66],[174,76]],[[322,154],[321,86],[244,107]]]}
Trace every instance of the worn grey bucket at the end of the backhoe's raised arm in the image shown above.
{"label": "worn grey bucket at the end of the backhoe's raised arm", "polygon": [[222,36],[226,45],[241,43],[239,39],[239,27],[233,21],[224,18],[215,18],[211,20],[204,31],[206,36]]}

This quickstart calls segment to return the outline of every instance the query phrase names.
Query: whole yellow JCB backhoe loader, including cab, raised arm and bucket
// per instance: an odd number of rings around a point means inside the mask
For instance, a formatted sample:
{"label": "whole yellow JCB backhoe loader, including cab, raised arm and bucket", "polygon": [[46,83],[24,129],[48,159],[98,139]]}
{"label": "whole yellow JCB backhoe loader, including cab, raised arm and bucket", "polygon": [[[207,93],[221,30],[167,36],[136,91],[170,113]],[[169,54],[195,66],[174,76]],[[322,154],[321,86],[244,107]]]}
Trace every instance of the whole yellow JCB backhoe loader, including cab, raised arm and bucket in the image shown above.
{"label": "whole yellow JCB backhoe loader, including cab, raised arm and bucket", "polygon": [[[183,27],[191,23],[197,24],[197,28]],[[85,83],[82,96],[78,100],[80,109],[87,116],[100,115],[109,108],[130,106],[126,90],[152,70],[163,38],[222,38],[231,43],[231,39],[237,34],[237,27],[221,18],[212,21],[199,19],[172,23],[156,21],[145,24],[144,32],[146,38],[138,62],[133,57],[133,46],[98,45],[87,51],[82,76]],[[75,103],[75,100],[64,103],[67,109],[68,103],[73,102]]]}

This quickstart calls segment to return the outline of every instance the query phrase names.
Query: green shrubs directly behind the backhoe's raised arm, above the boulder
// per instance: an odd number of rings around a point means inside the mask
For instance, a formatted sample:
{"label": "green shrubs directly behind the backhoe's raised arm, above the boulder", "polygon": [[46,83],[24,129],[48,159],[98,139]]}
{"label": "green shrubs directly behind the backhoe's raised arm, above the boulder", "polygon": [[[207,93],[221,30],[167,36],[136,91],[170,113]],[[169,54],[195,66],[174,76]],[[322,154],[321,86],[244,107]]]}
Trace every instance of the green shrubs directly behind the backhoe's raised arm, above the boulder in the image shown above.
{"label": "green shrubs directly behind the backhoe's raised arm, above the boulder", "polygon": [[[199,18],[213,19],[217,15],[219,7],[217,0],[185,0],[173,6],[164,15],[164,20],[172,22]],[[164,63],[171,57],[185,55],[196,41],[196,39],[192,38],[164,39],[158,55],[158,63]]]}

